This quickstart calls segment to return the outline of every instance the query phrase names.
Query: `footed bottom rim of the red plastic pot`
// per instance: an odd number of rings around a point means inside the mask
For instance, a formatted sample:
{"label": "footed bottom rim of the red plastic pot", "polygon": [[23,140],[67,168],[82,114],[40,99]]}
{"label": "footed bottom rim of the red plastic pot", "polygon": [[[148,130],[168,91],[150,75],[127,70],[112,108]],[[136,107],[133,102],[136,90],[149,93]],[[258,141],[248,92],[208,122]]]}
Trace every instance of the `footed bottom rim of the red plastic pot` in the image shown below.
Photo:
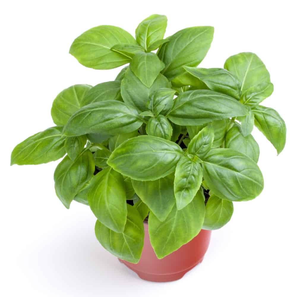
{"label": "footed bottom rim of the red plastic pot", "polygon": [[189,268],[187,268],[187,269],[185,269],[183,271],[176,272],[176,273],[171,273],[171,274],[151,274],[151,273],[145,273],[145,272],[142,272],[142,271],[138,271],[137,269],[134,269],[131,266],[128,266],[125,263],[125,261],[119,259],[119,261],[121,263],[123,263],[129,269],[131,269],[134,272],[136,272],[141,279],[147,280],[149,282],[173,282],[175,280],[181,279],[188,271],[190,271],[195,266],[197,266],[198,264],[200,264],[202,262],[202,260],[203,260],[203,257],[202,257],[201,260],[199,260],[193,266],[191,266],[191,267],[189,267]]}

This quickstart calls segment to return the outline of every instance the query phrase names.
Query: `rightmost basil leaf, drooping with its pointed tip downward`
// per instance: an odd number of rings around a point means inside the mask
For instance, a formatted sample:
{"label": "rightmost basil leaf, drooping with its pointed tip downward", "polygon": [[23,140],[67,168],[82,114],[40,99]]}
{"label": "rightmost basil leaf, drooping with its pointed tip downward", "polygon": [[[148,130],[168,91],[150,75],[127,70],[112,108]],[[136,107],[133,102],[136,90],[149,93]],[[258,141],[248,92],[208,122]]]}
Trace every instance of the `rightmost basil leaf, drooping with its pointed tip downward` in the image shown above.
{"label": "rightmost basil leaf, drooping with its pointed tip downward", "polygon": [[252,109],[255,126],[265,135],[280,154],[286,144],[287,128],[285,121],[273,108],[258,105]]}

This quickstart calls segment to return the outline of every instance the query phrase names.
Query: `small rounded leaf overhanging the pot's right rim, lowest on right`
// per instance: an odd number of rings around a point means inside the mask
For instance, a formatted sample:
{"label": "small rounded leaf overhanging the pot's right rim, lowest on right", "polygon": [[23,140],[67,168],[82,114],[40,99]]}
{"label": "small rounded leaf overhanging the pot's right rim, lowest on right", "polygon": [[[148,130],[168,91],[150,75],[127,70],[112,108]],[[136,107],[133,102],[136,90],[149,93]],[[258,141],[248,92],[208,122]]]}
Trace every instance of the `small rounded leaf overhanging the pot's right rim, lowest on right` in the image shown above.
{"label": "small rounded leaf overhanging the pot's right rim, lowest on right", "polygon": [[211,195],[205,207],[203,229],[216,230],[226,225],[233,214],[232,201],[224,200],[216,195]]}

